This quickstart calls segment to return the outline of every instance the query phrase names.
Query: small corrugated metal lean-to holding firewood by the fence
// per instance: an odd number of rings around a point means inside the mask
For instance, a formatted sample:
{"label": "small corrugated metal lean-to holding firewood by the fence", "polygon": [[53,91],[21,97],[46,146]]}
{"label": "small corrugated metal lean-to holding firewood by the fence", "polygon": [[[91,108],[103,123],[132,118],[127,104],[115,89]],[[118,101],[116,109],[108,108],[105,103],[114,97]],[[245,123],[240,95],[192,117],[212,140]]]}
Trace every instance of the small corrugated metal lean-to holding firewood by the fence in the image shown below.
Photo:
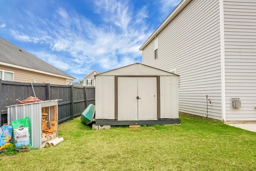
{"label": "small corrugated metal lean-to holding firewood by the fence", "polygon": [[29,117],[33,148],[41,149],[46,142],[58,136],[58,100],[11,105],[7,108],[8,125],[16,119]]}

